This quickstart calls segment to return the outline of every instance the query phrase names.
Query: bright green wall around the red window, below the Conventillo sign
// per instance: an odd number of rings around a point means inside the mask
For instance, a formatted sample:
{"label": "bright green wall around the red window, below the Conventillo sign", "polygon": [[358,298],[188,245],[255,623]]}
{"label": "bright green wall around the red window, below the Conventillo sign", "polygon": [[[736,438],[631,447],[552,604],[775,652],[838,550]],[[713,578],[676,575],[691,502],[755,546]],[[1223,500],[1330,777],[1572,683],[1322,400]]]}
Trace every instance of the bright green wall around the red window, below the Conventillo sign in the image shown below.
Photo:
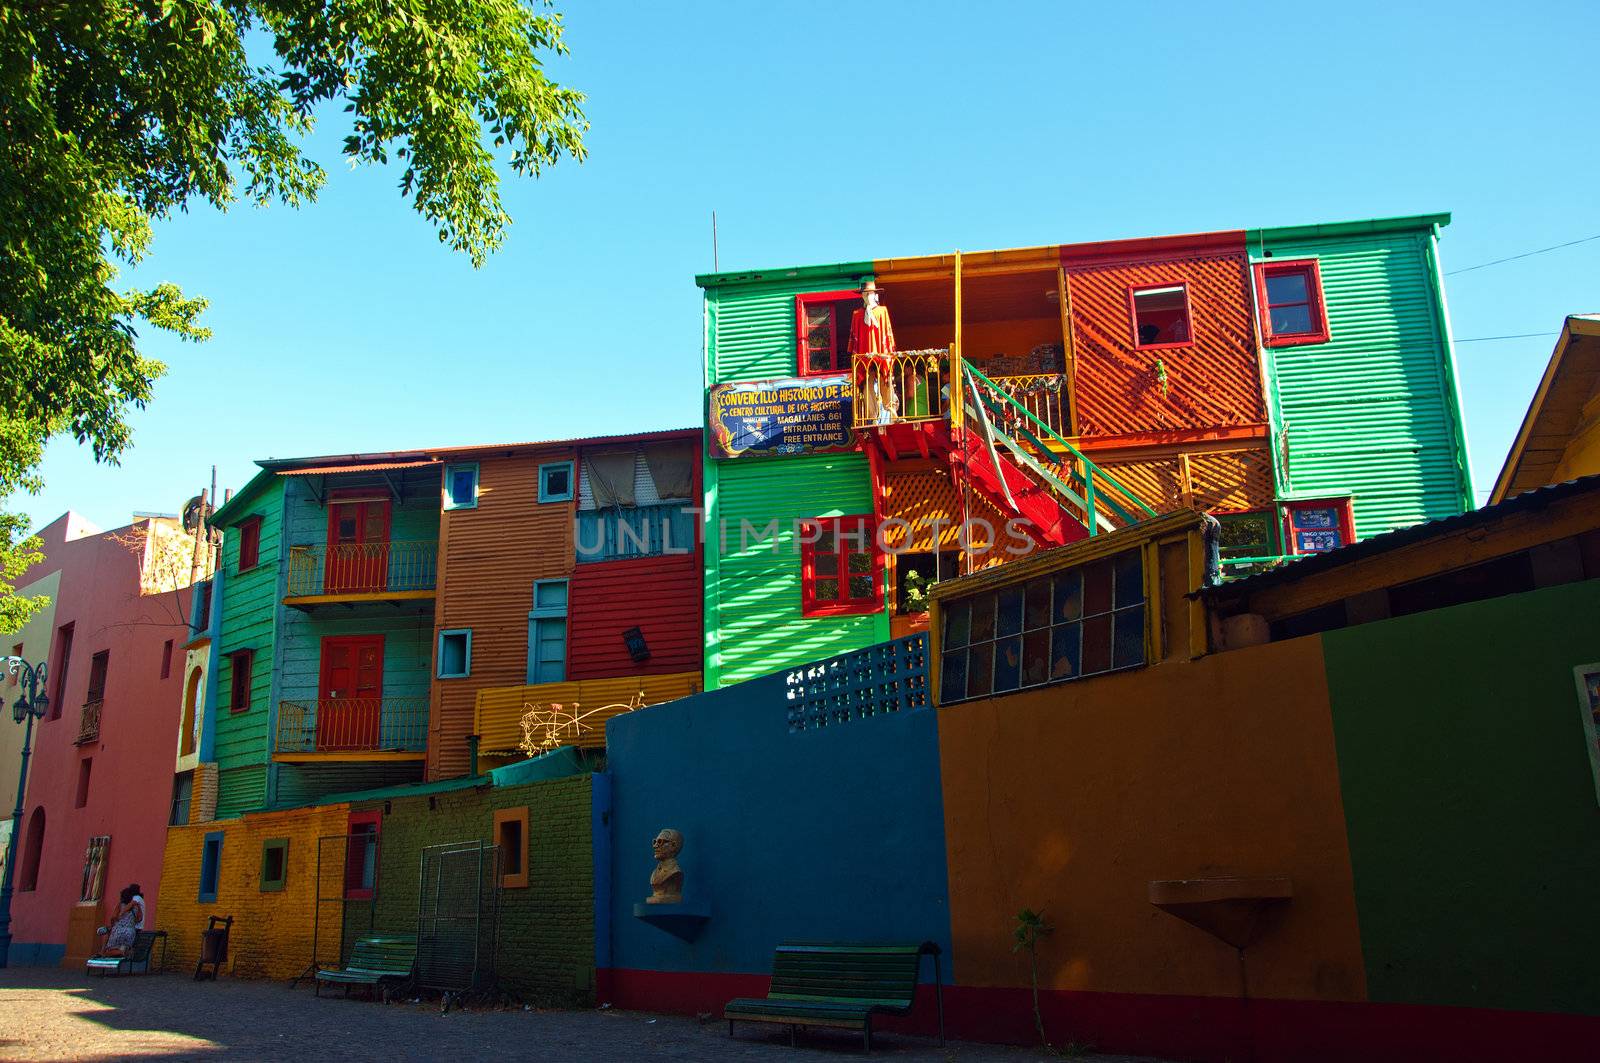
{"label": "bright green wall around the red window, below the Conventillo sign", "polygon": [[[706,491],[707,690],[890,637],[886,612],[800,615],[795,522],[870,514],[872,474],[864,455],[707,461]],[[762,536],[773,520],[778,535]],[[742,549],[741,522],[755,528]]]}

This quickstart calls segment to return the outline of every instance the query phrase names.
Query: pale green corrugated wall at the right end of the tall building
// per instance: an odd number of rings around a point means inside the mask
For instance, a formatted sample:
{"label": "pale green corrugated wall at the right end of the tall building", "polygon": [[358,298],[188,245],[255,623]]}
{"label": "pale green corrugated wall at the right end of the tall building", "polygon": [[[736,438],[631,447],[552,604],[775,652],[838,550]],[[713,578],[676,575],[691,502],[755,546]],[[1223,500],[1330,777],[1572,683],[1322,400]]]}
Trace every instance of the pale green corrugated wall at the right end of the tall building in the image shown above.
{"label": "pale green corrugated wall at the right end of the tall building", "polygon": [[1326,344],[1266,351],[1274,427],[1288,437],[1280,491],[1352,491],[1360,538],[1469,507],[1432,231],[1274,240],[1269,229],[1250,251],[1317,258],[1328,307]]}

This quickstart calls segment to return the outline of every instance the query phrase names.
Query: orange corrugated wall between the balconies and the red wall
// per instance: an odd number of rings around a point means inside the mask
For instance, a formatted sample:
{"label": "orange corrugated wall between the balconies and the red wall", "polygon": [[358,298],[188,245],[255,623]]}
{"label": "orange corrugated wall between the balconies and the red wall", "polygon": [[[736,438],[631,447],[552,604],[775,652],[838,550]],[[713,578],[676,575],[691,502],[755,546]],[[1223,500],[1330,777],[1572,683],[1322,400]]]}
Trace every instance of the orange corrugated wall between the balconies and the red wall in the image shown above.
{"label": "orange corrugated wall between the balconies and the red wall", "polygon": [[472,629],[472,674],[434,679],[429,778],[467,772],[478,690],[528,679],[533,581],[571,576],[576,512],[576,501],[539,503],[539,464],[576,459],[571,448],[480,458],[477,507],[442,514],[435,624]]}

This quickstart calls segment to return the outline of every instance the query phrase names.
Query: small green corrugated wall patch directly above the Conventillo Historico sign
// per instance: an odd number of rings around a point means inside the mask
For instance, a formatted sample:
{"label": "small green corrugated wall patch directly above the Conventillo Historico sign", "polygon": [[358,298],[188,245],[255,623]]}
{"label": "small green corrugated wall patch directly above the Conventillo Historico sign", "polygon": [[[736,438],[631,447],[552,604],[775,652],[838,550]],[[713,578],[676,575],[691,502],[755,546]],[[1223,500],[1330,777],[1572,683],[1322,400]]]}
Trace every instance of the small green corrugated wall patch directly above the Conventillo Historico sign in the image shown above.
{"label": "small green corrugated wall patch directly above the Conventillo Historico sign", "polygon": [[854,288],[872,263],[842,266],[832,277],[738,285],[706,291],[707,376],[762,379],[795,373],[795,296],[805,291]]}

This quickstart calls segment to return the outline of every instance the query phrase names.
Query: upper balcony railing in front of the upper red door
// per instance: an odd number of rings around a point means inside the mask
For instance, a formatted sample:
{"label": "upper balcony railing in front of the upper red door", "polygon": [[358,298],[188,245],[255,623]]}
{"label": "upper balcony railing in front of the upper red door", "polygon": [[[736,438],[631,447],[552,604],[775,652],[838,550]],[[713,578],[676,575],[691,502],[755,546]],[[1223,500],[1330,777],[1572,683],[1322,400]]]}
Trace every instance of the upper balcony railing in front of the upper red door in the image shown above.
{"label": "upper balcony railing in front of the upper red door", "polygon": [[437,540],[291,546],[283,604],[432,600],[437,586]]}

